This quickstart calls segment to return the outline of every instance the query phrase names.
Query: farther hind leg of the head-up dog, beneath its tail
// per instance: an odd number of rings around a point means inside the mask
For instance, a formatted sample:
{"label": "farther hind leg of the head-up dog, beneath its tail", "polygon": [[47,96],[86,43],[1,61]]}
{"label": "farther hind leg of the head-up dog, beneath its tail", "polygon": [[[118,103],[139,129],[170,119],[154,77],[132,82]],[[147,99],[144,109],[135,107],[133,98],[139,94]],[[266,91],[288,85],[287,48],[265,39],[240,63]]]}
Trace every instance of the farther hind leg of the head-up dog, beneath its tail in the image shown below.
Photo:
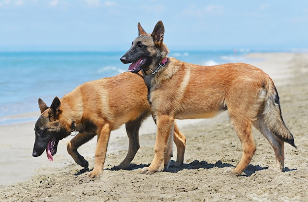
{"label": "farther hind leg of the head-up dog, beneath its tail", "polygon": [[254,127],[269,141],[276,156],[276,169],[284,171],[284,142],[277,138],[266,126],[263,115],[258,115],[257,120],[252,122]]}

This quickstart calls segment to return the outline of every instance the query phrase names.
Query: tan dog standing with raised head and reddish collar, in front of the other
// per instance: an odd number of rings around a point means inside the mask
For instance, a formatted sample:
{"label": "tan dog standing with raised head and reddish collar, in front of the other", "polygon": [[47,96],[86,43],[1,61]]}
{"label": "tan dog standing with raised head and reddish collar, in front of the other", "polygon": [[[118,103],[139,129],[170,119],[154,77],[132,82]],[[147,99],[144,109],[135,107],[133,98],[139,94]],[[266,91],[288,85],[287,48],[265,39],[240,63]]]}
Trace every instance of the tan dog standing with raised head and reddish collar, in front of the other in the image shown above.
{"label": "tan dog standing with raised head and reddish collar, in front of the other", "polygon": [[175,118],[209,118],[225,110],[243,147],[241,161],[227,172],[239,175],[249,164],[256,150],[251,125],[270,142],[276,167],[284,171],[284,142],[296,146],[283,122],[276,87],[266,73],[244,63],[200,66],[168,58],[161,21],[152,34],[139,23],[138,30],[121,61],[132,63],[131,72],[143,70],[157,121],[154,160],[143,173],[162,171],[168,164],[164,157]]}

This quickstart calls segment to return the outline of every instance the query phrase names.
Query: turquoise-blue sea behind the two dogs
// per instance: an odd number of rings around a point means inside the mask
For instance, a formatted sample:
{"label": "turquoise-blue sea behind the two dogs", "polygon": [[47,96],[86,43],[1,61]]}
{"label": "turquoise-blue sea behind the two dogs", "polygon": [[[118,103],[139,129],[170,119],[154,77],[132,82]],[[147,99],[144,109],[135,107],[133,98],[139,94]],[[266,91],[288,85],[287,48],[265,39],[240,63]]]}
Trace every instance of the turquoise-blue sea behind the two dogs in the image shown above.
{"label": "turquoise-blue sea behind the two dogs", "polygon": [[[202,65],[247,62],[233,51],[182,51],[170,57]],[[50,105],[87,81],[127,71],[125,52],[0,52],[0,125],[36,120],[12,115],[39,112],[37,100]]]}

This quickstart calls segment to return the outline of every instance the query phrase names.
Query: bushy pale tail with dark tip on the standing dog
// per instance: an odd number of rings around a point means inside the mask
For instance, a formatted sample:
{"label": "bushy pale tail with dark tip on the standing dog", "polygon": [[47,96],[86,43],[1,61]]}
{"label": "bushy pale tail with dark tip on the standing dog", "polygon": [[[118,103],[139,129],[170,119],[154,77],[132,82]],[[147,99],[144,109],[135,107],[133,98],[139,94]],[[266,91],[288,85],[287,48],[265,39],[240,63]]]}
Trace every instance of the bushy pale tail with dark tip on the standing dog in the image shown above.
{"label": "bushy pale tail with dark tip on the standing dog", "polygon": [[264,104],[264,122],[268,129],[276,135],[283,142],[289,143],[295,148],[297,146],[294,144],[294,138],[292,133],[286,127],[280,109],[279,96],[277,89],[271,79],[266,85],[267,95]]}

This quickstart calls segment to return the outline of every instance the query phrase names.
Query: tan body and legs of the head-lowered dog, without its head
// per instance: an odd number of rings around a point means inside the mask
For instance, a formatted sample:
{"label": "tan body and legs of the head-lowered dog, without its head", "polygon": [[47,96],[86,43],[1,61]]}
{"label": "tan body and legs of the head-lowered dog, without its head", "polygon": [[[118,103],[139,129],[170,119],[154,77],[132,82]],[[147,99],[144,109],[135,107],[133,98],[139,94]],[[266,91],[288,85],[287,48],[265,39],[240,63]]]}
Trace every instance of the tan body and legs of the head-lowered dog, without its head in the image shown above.
{"label": "tan body and legs of the head-lowered dog, without its head", "polygon": [[[134,89],[134,90],[132,90]],[[139,148],[138,130],[143,119],[151,115],[150,104],[147,100],[147,87],[139,74],[129,72],[115,77],[87,82],[76,87],[72,92],[63,96],[59,120],[65,128],[70,128],[75,122],[78,133],[68,144],[67,151],[79,165],[83,157],[77,148],[97,134],[95,149],[95,164],[90,177],[103,172],[107,145],[110,132],[126,123],[129,138],[128,153],[123,162],[117,167],[125,169]],[[48,114],[47,109],[43,114]],[[96,126],[92,131],[89,124]],[[185,136],[175,125],[174,142],[178,149],[177,164],[182,165],[185,152]],[[172,143],[169,144],[166,162],[172,155]],[[167,166],[167,164],[165,165]]]}

